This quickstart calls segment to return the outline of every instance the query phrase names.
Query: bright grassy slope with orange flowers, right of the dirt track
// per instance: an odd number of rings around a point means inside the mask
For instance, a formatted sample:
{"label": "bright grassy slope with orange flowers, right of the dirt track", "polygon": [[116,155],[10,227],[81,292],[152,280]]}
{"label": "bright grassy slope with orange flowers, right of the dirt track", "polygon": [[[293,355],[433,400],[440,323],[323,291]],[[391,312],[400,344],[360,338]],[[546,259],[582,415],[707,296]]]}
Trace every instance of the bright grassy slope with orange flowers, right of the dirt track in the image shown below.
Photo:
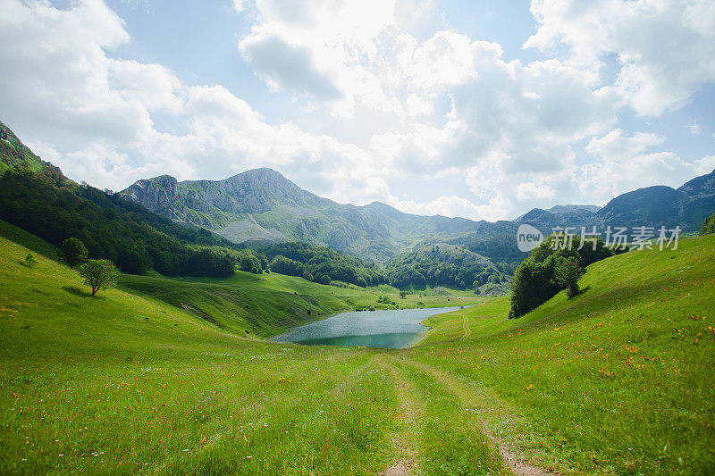
{"label": "bright grassy slope with orange flowers, right of the dirt track", "polygon": [[595,263],[585,293],[517,320],[503,297],[434,316],[424,342],[450,342],[409,359],[479,389],[493,407],[487,427],[547,465],[711,473],[714,250],[708,236]]}

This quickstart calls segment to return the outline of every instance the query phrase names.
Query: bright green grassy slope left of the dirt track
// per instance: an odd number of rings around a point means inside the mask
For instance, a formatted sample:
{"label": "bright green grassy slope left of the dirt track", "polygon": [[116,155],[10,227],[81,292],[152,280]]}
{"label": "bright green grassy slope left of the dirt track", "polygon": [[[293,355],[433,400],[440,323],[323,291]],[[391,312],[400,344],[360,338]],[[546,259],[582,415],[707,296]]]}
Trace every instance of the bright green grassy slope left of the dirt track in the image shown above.
{"label": "bright green grassy slope left of the dirt track", "polygon": [[[0,473],[368,474],[400,456],[379,352],[237,338],[149,296],[90,297],[63,264],[0,249]],[[480,433],[447,421],[431,410],[413,429],[433,474],[501,471]]]}

